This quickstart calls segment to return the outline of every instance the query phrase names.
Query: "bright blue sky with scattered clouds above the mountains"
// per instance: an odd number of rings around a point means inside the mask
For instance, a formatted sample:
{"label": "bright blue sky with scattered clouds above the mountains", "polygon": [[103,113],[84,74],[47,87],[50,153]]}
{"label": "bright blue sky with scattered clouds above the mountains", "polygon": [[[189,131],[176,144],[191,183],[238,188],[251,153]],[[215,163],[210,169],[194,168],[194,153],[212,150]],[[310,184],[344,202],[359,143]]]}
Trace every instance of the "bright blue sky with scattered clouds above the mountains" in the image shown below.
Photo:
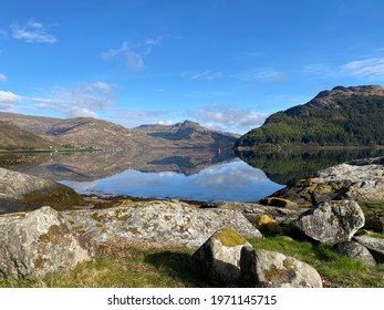
{"label": "bright blue sky with scattered clouds above the mountains", "polygon": [[384,84],[382,0],[6,0],[0,111],[236,133]]}

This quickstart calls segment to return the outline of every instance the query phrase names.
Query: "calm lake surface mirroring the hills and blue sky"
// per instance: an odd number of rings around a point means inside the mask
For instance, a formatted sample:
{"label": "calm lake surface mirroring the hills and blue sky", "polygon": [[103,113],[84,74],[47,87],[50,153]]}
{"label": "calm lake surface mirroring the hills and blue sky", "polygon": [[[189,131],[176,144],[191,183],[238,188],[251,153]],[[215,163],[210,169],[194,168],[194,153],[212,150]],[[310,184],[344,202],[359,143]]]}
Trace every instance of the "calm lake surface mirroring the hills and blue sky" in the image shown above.
{"label": "calm lake surface mirroring the hills and blue sky", "polygon": [[[375,151],[241,153],[183,151],[0,155],[1,166],[81,194],[255,202],[311,173]],[[241,158],[241,159],[240,159]]]}

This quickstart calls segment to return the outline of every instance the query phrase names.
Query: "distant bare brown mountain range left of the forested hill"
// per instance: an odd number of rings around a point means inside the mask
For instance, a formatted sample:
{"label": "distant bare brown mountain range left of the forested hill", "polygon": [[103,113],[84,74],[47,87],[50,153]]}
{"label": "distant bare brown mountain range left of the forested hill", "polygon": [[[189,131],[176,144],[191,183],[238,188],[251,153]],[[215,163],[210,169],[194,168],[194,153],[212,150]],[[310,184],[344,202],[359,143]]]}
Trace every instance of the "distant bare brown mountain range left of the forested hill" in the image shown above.
{"label": "distant bare brown mountain range left of the forested hill", "polygon": [[64,146],[94,148],[231,148],[238,136],[207,130],[185,121],[172,126],[144,125],[126,128],[91,117],[53,118],[13,113],[0,113],[0,121],[12,122],[23,131],[39,134]]}

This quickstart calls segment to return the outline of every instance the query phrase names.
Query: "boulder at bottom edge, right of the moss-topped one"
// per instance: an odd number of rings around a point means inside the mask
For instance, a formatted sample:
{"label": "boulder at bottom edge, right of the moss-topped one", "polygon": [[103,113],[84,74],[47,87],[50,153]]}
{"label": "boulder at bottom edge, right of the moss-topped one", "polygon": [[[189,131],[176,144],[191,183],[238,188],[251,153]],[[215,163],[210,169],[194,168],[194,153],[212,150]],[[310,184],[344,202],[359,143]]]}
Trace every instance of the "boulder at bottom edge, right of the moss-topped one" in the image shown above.
{"label": "boulder at bottom edge, right of the moss-topped one", "polygon": [[321,288],[318,271],[305,262],[276,251],[241,249],[241,286],[258,288]]}

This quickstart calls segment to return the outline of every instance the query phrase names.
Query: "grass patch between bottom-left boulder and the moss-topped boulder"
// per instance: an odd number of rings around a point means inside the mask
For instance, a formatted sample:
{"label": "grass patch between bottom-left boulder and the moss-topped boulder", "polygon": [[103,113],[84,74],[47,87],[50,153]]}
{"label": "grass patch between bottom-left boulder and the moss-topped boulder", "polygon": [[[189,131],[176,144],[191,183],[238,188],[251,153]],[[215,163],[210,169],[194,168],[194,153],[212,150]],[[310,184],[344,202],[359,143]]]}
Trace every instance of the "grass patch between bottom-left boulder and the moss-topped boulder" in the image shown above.
{"label": "grass patch between bottom-left boulder and the moss-topped boulder", "polygon": [[188,249],[125,248],[68,275],[40,280],[0,281],[0,288],[186,288],[205,286],[190,270]]}

